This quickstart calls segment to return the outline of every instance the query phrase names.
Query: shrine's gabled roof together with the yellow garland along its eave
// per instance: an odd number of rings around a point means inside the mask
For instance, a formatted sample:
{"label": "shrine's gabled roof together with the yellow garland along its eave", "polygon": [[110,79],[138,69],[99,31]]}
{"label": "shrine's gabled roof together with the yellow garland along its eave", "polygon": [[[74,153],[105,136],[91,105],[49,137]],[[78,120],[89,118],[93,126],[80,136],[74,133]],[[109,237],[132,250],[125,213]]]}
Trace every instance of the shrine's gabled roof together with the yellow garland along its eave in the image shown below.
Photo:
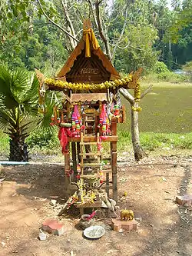
{"label": "shrine's gabled roof together with the yellow garland along its eave", "polygon": [[98,44],[89,20],[84,21],[81,41],[56,78],[44,79],[50,90],[73,92],[106,92],[118,88],[135,88],[142,69],[120,78],[118,71]]}

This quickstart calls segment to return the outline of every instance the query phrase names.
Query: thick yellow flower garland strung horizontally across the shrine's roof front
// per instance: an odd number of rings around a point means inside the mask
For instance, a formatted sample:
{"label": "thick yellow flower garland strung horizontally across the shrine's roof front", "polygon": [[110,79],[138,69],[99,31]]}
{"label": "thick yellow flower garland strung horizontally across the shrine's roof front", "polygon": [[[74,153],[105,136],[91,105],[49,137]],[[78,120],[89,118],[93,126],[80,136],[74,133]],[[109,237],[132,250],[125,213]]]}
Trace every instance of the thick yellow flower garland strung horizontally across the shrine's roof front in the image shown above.
{"label": "thick yellow flower garland strung horizontally across the shrine's roof front", "polygon": [[61,81],[61,80],[55,80],[53,78],[47,78],[45,79],[46,85],[51,85],[56,88],[61,89],[71,89],[75,91],[98,91],[102,89],[108,89],[108,88],[118,88],[118,87],[124,87],[128,88],[128,83],[132,81],[133,76],[128,75],[121,79],[116,79],[114,81],[105,81],[101,84],[84,84],[84,83],[71,83],[68,81]]}

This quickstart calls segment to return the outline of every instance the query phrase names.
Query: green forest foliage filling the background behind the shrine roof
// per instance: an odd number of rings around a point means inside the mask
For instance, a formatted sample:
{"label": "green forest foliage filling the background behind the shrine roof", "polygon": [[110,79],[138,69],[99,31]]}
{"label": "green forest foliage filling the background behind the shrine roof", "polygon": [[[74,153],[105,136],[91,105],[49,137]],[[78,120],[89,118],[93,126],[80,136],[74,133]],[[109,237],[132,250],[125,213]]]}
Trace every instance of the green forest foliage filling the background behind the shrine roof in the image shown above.
{"label": "green forest foliage filling the background behind the shrine roof", "polygon": [[[47,71],[48,75],[55,75],[72,50],[70,39],[60,29],[66,28],[73,34],[63,6],[67,8],[75,38],[81,38],[83,19],[89,17],[104,49],[95,27],[94,12],[91,12],[93,0],[1,0],[0,59],[12,67],[39,68]],[[169,69],[177,69],[191,61],[190,0],[174,0],[171,9],[167,7],[166,0],[115,0],[110,6],[107,0],[103,0],[100,12],[113,53],[112,62],[118,71],[127,73],[138,67],[149,71],[157,60],[164,62]]]}

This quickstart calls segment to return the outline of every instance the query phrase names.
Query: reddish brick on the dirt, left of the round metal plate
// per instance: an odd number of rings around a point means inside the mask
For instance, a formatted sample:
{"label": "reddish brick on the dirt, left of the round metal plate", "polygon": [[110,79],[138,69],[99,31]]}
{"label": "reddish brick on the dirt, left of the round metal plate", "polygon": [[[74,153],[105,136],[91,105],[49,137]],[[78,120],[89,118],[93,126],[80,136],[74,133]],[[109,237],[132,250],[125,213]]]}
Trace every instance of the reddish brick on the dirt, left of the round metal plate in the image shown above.
{"label": "reddish brick on the dirt, left of the round metal plate", "polygon": [[49,234],[64,234],[64,224],[58,223],[57,220],[46,220],[42,223],[41,229]]}

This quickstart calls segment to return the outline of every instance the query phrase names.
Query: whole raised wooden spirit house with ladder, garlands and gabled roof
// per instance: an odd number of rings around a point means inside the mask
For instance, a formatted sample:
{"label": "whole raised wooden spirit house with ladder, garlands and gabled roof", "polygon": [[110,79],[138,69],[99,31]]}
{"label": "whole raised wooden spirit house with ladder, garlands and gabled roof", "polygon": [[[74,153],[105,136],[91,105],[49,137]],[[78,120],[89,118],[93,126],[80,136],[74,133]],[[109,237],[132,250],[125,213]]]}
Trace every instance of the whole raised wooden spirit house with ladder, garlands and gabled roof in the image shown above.
{"label": "whole raised wooden spirit house with ladder, garlands and gabled roof", "polygon": [[[60,107],[55,106],[51,125],[58,125],[62,152],[65,155],[66,185],[78,186],[76,205],[99,208],[105,188],[118,199],[117,124],[125,121],[119,88],[135,88],[138,72],[120,78],[118,71],[104,55],[91,24],[84,21],[81,41],[56,78],[40,79],[40,107],[45,88],[63,91]],[[102,169],[102,145],[111,145],[111,169]],[[71,166],[72,158],[72,166]],[[112,181],[110,183],[110,178]],[[112,184],[112,185],[111,185]]]}

